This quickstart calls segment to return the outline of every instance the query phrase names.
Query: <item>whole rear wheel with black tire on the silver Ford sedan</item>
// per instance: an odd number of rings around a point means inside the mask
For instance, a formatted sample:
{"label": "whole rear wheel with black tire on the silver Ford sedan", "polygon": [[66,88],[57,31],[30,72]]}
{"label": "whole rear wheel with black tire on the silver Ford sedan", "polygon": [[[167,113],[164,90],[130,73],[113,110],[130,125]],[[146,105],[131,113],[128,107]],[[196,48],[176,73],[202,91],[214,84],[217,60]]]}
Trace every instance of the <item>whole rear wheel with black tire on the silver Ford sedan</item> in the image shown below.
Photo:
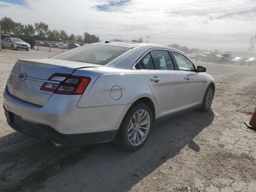
{"label": "whole rear wheel with black tire on the silver Ford sedan", "polygon": [[[136,125],[136,122],[139,124]],[[141,122],[147,124],[140,125]],[[136,151],[148,140],[152,126],[152,111],[146,104],[138,102],[124,116],[114,142],[123,150]],[[142,134],[146,135],[142,136]]]}

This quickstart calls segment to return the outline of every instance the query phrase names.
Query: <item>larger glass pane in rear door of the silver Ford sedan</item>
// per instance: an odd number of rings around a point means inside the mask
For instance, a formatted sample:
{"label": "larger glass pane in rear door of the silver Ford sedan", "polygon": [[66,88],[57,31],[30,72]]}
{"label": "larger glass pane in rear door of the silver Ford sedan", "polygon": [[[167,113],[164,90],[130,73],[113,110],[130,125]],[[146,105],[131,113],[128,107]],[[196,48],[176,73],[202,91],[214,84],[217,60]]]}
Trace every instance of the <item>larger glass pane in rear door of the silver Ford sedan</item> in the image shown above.
{"label": "larger glass pane in rear door of the silver Ford sedan", "polygon": [[156,70],[174,70],[172,60],[168,51],[150,51]]}

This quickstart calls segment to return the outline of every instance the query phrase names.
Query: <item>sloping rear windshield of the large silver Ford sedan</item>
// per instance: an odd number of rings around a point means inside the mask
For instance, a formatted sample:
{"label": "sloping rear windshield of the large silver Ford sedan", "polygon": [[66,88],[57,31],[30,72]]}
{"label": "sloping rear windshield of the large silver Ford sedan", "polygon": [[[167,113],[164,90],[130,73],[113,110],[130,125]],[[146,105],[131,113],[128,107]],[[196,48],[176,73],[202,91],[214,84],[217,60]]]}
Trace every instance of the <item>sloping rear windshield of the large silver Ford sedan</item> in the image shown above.
{"label": "sloping rear windshield of the large silver Ford sedan", "polygon": [[51,58],[105,65],[128,50],[130,48],[119,46],[84,45]]}

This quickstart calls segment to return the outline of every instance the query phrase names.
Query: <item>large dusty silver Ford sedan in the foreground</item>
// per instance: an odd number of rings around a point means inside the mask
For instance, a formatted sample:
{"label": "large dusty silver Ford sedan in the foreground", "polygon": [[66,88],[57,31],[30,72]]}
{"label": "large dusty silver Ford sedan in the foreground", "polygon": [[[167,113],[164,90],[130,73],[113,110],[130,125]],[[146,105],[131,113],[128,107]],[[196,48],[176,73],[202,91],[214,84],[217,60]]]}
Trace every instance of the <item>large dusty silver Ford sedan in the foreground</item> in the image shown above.
{"label": "large dusty silver Ford sedan in the foreground", "polygon": [[144,145],[155,122],[208,111],[214,80],[180,50],[100,42],[47,59],[18,60],[4,91],[15,130],[64,145]]}

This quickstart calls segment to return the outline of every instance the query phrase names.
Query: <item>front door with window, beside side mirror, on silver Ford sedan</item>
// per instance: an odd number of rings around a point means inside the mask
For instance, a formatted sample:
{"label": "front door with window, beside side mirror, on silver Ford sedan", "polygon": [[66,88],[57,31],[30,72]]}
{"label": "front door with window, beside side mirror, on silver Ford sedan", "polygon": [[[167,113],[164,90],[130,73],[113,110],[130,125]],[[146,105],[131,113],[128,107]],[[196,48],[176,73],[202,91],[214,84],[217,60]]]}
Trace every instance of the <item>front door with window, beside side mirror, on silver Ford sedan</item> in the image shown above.
{"label": "front door with window, beside side mirror, on silver Ford sedan", "polygon": [[196,72],[195,65],[182,53],[172,51],[183,76],[181,108],[186,109],[202,103],[203,75]]}

